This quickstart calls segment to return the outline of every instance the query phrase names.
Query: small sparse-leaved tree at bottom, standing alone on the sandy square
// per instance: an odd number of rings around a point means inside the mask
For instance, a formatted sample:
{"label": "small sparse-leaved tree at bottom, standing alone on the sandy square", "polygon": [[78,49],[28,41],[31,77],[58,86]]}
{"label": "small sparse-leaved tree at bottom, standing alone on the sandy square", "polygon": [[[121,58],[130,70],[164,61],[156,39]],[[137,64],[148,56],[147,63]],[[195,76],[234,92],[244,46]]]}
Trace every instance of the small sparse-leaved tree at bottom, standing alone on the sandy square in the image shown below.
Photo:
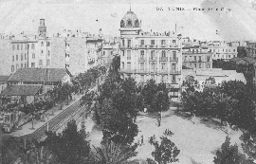
{"label": "small sparse-leaved tree at bottom, standing alone on the sandy square", "polygon": [[155,161],[158,164],[167,164],[178,161],[177,155],[179,155],[180,150],[177,149],[174,142],[168,137],[160,137],[160,139],[160,145],[158,141],[153,141],[155,151],[152,152],[152,156],[154,156]]}

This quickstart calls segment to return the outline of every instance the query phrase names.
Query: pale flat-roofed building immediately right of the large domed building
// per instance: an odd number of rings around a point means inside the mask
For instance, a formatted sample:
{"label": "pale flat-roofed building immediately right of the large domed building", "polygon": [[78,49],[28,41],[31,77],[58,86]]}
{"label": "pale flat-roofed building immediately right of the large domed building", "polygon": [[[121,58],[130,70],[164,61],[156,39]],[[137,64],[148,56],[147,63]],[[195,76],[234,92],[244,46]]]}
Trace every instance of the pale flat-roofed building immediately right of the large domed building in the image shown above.
{"label": "pale flat-roofed building immediately right of the large domed building", "polygon": [[212,53],[207,48],[187,46],[182,48],[183,65],[195,69],[211,69]]}

